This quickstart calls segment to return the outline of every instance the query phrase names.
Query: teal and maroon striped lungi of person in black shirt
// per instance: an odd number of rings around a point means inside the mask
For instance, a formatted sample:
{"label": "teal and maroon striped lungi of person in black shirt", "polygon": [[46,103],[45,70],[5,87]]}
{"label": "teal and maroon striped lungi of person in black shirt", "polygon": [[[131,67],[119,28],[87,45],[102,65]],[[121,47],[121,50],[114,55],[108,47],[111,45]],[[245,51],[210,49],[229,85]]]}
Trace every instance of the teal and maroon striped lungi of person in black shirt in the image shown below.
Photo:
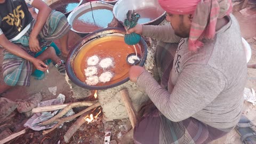
{"label": "teal and maroon striped lungi of person in black shirt", "polygon": [[[36,20],[31,21],[31,26],[27,33],[17,41],[12,42],[17,44],[33,57],[35,53],[31,52],[29,49],[29,35],[34,28],[35,22]],[[70,28],[71,26],[68,24],[67,18],[63,13],[58,11],[52,12],[38,35],[39,45],[44,47],[51,44],[54,39],[58,39],[67,34]],[[10,86],[29,86],[30,76],[33,69],[32,63],[6,50],[3,54],[4,82]]]}

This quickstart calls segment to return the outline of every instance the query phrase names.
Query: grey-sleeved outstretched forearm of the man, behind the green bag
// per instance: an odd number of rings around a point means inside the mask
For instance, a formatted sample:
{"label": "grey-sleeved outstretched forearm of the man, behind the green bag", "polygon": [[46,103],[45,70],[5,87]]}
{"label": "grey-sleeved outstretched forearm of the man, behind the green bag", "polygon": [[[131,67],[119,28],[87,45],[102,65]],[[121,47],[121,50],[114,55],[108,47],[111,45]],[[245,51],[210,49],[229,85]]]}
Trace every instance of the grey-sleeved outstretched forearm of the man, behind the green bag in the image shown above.
{"label": "grey-sleeved outstretched forearm of the man, behind the green bag", "polygon": [[142,26],[142,35],[158,39],[165,43],[179,43],[181,39],[181,37],[174,34],[174,30],[171,25]]}

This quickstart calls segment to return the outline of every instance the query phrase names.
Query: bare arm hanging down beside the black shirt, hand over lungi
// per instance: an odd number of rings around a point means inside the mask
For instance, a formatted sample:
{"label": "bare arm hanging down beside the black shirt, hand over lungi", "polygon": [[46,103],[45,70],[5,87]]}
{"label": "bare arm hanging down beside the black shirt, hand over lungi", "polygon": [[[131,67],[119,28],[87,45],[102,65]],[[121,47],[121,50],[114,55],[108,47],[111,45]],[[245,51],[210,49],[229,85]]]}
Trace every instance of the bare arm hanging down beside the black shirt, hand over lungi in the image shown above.
{"label": "bare arm hanging down beside the black shirt, hand over lungi", "polygon": [[52,9],[42,0],[26,0],[26,2],[38,9],[36,23],[29,36],[29,47],[31,51],[39,52],[41,51],[41,47],[39,46],[37,36],[43,28]]}

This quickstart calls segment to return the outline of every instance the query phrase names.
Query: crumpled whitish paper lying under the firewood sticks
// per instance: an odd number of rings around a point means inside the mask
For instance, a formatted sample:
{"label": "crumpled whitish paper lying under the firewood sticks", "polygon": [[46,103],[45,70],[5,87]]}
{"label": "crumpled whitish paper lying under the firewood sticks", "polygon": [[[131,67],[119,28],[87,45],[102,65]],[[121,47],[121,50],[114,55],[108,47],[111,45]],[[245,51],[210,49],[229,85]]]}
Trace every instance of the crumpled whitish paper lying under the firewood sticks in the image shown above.
{"label": "crumpled whitish paper lying under the firewood sticks", "polygon": [[[42,102],[38,103],[37,107],[60,105],[60,104],[63,104],[64,101],[65,101],[65,95],[60,93],[56,99],[42,101]],[[28,119],[28,121],[23,126],[29,127],[30,129],[32,129],[34,131],[41,131],[41,130],[44,130],[44,129],[50,129],[57,123],[53,123],[53,124],[50,124],[50,125],[44,125],[44,126],[39,125],[39,124],[44,122],[44,121],[47,121],[48,119],[57,115],[60,111],[61,111],[61,109],[60,110],[55,110],[53,112],[35,113],[31,118]],[[64,115],[63,117],[68,117],[68,116],[71,116],[71,115],[74,115],[74,114],[75,114],[75,112],[73,111],[73,109],[70,109],[67,112],[67,114]]]}

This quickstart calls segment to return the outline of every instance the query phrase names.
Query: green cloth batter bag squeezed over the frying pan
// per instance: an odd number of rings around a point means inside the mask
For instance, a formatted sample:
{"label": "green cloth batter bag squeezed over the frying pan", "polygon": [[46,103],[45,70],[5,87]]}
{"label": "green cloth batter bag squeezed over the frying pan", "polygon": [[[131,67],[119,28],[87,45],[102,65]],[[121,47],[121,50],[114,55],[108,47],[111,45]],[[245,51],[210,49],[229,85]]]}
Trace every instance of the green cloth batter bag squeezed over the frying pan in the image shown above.
{"label": "green cloth batter bag squeezed over the frying pan", "polygon": [[[137,25],[140,14],[132,12],[131,10],[126,13],[126,19],[124,20],[124,27],[128,30]],[[136,33],[125,34],[124,42],[128,45],[138,44],[140,42],[140,35]]]}

